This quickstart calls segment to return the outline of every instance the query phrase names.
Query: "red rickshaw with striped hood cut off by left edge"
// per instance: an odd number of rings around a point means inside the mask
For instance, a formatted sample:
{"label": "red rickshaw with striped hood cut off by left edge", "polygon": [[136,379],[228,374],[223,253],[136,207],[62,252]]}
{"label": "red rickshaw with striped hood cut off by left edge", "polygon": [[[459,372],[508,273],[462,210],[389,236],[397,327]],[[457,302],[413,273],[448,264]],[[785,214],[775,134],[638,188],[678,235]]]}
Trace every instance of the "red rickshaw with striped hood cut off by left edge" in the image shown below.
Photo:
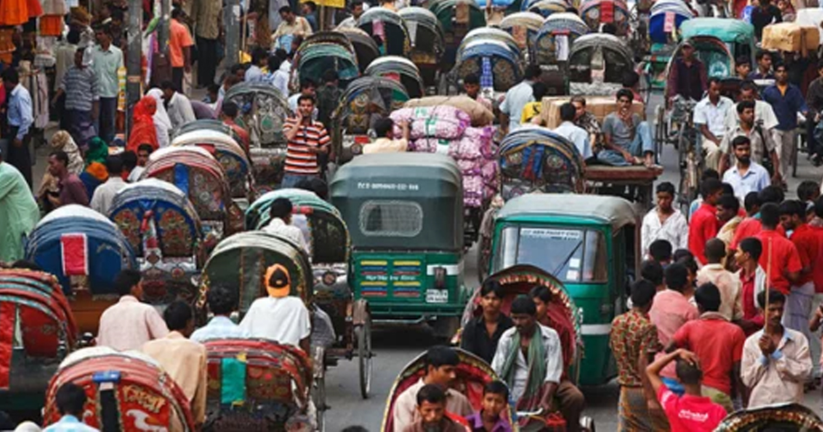
{"label": "red rickshaw with striped hood cut off by left edge", "polygon": [[38,410],[58,363],[77,344],[72,309],[54,276],[12,268],[0,269],[0,314],[0,404]]}

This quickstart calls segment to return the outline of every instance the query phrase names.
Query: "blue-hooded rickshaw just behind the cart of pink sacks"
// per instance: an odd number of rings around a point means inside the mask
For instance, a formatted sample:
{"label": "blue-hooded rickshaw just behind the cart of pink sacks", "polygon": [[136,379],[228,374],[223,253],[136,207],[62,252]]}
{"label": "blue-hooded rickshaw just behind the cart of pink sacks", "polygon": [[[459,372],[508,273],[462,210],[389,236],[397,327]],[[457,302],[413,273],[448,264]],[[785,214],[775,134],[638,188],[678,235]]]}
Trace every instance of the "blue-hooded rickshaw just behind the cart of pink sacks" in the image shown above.
{"label": "blue-hooded rickshaw just behind the cart of pink sacks", "polygon": [[[500,33],[511,39],[508,33]],[[514,42],[511,39],[509,42]],[[520,63],[520,50],[517,44],[506,43],[495,36],[476,37],[473,40],[463,41],[457,53],[457,63],[451,73],[451,79],[463,79],[469,74],[482,77],[483,63],[486,59],[491,63],[491,89],[486,87],[481,79],[483,91],[504,92],[517,85],[523,79],[523,67]]]}

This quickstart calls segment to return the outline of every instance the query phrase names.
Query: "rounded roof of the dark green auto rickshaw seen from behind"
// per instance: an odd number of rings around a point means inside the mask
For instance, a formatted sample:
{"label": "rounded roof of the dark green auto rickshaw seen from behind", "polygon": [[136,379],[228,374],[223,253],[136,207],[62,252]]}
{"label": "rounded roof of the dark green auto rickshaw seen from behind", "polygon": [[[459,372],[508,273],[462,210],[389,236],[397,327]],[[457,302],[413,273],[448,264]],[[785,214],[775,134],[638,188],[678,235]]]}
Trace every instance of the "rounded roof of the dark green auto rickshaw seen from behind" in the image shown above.
{"label": "rounded roof of the dark green auto rickshaw seen from behind", "polygon": [[[334,175],[329,190],[332,195],[347,189],[357,190],[358,182],[416,179],[418,183],[445,181],[453,183],[460,190],[463,181],[458,165],[449,156],[437,153],[378,153],[361,155],[343,165]],[[431,190],[423,190],[430,194]]]}

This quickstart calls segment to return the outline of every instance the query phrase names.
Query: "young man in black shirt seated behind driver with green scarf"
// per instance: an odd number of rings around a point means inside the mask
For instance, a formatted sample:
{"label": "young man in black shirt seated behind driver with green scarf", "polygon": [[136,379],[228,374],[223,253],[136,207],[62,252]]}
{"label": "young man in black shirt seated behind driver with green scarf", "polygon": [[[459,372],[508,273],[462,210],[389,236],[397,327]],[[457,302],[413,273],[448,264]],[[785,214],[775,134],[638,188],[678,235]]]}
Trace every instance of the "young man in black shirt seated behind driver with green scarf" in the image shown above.
{"label": "young man in black shirt seated behind driver with green scarf", "polygon": [[480,288],[480,307],[483,314],[473,318],[463,327],[460,347],[477,355],[486,363],[495,358],[497,342],[514,323],[511,318],[500,312],[505,293],[500,282],[486,279]]}

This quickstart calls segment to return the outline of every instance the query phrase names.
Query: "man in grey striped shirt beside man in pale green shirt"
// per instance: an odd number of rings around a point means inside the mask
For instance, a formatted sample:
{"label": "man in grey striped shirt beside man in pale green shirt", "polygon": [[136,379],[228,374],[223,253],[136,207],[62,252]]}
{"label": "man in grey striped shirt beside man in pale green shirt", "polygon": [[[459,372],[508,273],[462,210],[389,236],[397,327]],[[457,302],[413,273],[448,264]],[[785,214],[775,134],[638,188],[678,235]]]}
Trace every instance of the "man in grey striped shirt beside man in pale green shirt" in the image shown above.
{"label": "man in grey striped shirt beside man in pale green shirt", "polygon": [[74,53],[74,66],[63,75],[63,81],[52,100],[52,104],[57,105],[60,95],[66,95],[67,132],[80,146],[86,142],[86,138],[95,135],[92,122],[100,112],[97,74],[93,68],[83,64],[85,51],[81,48]]}

